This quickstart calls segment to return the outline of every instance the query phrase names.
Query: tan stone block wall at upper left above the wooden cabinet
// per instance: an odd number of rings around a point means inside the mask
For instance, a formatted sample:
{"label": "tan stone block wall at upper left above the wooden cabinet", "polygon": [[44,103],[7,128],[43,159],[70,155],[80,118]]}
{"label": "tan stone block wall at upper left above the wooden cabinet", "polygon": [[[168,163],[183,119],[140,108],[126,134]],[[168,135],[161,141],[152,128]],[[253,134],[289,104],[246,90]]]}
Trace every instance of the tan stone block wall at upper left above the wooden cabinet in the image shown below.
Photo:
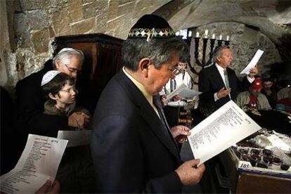
{"label": "tan stone block wall at upper left above the wooden cabinet", "polygon": [[[6,0],[6,4],[9,1]],[[131,25],[141,15],[153,13],[169,1],[13,1],[13,22],[8,25],[14,30],[13,41],[16,46],[14,51],[8,51],[4,57],[9,80],[5,84],[15,86],[19,79],[39,70],[52,57],[51,42],[55,37],[104,33],[125,39]],[[1,3],[5,4],[5,1],[2,0]]]}

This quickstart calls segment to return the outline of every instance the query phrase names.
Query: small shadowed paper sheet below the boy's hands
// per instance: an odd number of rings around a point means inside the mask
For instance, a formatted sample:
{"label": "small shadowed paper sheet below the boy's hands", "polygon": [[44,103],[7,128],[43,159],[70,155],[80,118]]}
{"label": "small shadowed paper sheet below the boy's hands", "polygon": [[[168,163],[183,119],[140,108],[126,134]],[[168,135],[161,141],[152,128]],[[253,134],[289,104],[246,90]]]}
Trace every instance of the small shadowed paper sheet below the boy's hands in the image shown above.
{"label": "small shadowed paper sheet below the boy's hands", "polygon": [[67,148],[79,145],[88,145],[91,140],[92,130],[58,131],[58,138],[67,139]]}

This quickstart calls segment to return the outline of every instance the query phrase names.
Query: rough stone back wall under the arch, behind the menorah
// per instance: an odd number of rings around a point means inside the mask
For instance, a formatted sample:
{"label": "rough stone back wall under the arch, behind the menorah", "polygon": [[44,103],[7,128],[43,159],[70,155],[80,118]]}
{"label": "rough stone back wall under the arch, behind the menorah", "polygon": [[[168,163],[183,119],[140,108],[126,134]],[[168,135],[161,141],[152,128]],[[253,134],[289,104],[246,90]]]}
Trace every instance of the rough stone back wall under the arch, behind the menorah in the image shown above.
{"label": "rough stone back wall under the arch, behind the menorah", "polygon": [[[233,63],[231,68],[235,70],[236,74],[240,76],[240,72],[245,66],[250,63],[254,53],[257,49],[264,51],[263,56],[259,60],[259,75],[261,77],[267,77],[270,74],[271,64],[281,62],[280,55],[276,46],[271,40],[264,34],[261,34],[258,30],[253,30],[250,27],[238,22],[218,22],[209,25],[203,25],[193,30],[193,35],[196,32],[200,33],[200,37],[204,36],[205,30],[209,30],[208,37],[212,37],[215,34],[215,38],[219,39],[219,34],[223,35],[223,39],[226,39],[226,35],[229,35],[231,40],[231,48],[233,49]],[[223,44],[224,45],[224,44]],[[200,67],[195,64],[194,60],[194,44],[191,44],[191,64],[194,64],[195,70],[200,72]],[[209,56],[210,43],[207,45],[207,57]],[[202,56],[202,39],[200,39],[200,56]],[[207,58],[208,59],[208,58]],[[201,60],[201,59],[200,59]],[[198,82],[198,75],[192,74],[195,82]]]}

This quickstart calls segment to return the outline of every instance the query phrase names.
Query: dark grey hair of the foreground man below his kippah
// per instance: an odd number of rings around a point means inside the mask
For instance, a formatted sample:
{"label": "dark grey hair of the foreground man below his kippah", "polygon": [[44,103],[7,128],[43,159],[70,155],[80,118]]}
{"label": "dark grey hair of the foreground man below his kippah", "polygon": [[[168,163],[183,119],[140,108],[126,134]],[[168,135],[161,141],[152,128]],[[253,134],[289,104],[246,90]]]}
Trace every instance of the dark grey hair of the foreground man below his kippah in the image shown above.
{"label": "dark grey hair of the foreground man below his kippah", "polygon": [[178,37],[169,39],[127,39],[122,45],[122,60],[129,70],[138,70],[138,61],[150,58],[157,69],[172,59],[172,52],[179,55],[181,62],[189,60],[189,46]]}

